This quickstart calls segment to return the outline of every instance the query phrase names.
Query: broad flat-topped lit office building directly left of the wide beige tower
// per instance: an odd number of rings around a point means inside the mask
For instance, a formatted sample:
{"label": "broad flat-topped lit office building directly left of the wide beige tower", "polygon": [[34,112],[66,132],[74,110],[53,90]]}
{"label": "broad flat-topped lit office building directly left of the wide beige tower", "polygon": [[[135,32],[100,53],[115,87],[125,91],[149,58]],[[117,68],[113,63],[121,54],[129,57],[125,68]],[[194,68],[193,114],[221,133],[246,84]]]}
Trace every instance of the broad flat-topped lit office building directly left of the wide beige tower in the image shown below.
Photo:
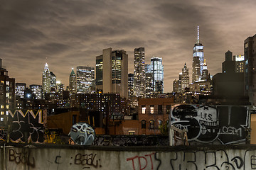
{"label": "broad flat-topped lit office building directly left of the wide beige tower", "polygon": [[92,91],[93,81],[95,79],[95,68],[78,66],[76,74],[76,86],[78,94],[87,94]]}

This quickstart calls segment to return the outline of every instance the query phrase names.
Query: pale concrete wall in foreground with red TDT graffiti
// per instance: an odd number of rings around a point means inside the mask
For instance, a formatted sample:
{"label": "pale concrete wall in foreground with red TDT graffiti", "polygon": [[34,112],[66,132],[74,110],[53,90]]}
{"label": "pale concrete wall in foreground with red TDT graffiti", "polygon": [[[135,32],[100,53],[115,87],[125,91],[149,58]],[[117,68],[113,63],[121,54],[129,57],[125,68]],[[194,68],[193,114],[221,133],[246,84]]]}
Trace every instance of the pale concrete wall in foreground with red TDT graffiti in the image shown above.
{"label": "pale concrete wall in foreground with red TDT graffiti", "polygon": [[256,169],[256,146],[1,146],[0,169]]}

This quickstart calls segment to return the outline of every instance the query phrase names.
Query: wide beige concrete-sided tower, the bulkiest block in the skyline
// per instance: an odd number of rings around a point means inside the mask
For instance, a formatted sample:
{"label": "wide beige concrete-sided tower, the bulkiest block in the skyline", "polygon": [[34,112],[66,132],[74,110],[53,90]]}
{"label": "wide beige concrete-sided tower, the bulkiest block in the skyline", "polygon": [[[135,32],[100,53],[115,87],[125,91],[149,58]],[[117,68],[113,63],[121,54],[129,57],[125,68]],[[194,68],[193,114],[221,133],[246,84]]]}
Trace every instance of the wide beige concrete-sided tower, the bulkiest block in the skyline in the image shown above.
{"label": "wide beige concrete-sided tower, the bulkiest block in the skyline", "polygon": [[96,57],[96,89],[128,97],[128,55],[124,50],[107,48]]}

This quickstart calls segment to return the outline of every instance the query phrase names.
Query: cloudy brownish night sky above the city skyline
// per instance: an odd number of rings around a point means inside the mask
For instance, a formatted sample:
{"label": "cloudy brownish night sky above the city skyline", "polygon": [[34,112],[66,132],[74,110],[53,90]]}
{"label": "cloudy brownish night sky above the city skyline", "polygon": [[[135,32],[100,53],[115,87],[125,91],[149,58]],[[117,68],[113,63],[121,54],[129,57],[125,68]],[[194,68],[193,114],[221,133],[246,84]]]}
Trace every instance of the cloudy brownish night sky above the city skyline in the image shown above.
{"label": "cloudy brownish night sky above the city skyline", "polygon": [[[129,73],[134,48],[145,47],[164,63],[164,92],[172,91],[186,62],[190,76],[197,26],[211,75],[221,72],[225,52],[243,55],[256,34],[255,0],[0,0],[0,58],[16,82],[42,84],[46,58],[68,86],[71,68],[95,67],[102,49],[126,50]],[[191,77],[190,77],[191,82]]]}

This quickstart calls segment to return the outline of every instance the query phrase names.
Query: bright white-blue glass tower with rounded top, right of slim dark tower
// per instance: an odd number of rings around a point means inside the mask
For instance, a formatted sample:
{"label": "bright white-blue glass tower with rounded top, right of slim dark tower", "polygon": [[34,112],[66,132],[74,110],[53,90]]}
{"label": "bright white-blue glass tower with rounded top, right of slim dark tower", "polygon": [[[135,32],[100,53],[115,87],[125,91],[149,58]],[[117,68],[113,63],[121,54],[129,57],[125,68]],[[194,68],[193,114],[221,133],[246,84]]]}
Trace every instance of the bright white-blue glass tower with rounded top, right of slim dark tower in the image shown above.
{"label": "bright white-blue glass tower with rounded top, right of slim dark tower", "polygon": [[153,90],[158,94],[164,92],[164,66],[162,58],[151,57],[151,65],[153,69]]}

